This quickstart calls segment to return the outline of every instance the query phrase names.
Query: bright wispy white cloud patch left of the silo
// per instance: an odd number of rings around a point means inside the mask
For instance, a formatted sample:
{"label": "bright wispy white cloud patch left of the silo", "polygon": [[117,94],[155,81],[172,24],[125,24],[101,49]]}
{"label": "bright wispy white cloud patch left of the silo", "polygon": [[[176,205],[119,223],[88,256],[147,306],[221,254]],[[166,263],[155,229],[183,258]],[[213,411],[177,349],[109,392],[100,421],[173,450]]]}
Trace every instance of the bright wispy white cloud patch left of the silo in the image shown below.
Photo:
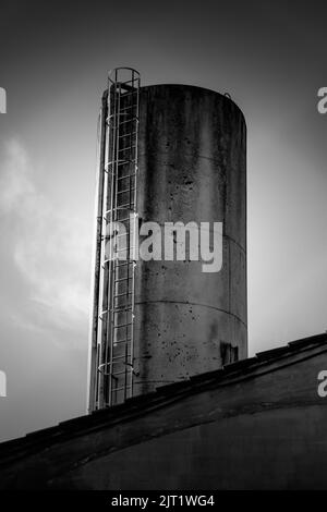
{"label": "bright wispy white cloud patch left of the silo", "polygon": [[28,310],[38,325],[85,329],[89,309],[88,225],[70,208],[56,208],[38,188],[27,151],[19,141],[7,142],[1,153],[0,212],[10,219],[13,260],[28,285],[21,318],[26,322]]}

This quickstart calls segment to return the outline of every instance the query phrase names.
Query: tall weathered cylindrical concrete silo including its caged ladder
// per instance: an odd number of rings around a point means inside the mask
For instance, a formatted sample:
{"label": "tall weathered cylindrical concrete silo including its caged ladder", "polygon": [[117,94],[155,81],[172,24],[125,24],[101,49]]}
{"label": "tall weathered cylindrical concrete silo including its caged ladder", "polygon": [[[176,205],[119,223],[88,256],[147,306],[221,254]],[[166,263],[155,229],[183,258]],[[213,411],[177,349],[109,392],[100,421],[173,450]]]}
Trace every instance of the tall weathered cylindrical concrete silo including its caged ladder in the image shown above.
{"label": "tall weathered cylindrical concrete silo including its caged ladder", "polygon": [[[120,72],[102,99],[90,410],[247,356],[244,117],[213,90],[138,87],[136,72]],[[164,248],[136,261],[129,248],[114,263],[119,244],[110,257],[105,244],[125,219],[131,245],[147,222],[220,222],[221,269],[167,260]]]}

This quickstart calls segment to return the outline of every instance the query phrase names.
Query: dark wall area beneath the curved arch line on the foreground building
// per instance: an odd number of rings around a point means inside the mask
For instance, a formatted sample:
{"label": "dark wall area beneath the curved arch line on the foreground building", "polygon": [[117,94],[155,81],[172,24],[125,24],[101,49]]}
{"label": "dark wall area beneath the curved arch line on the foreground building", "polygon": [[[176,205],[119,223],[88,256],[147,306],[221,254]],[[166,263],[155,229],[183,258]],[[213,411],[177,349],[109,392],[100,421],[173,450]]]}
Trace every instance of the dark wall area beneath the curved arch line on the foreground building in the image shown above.
{"label": "dark wall area beneath the curved arch line on the foreground building", "polygon": [[125,448],[51,488],[327,489],[326,422],[322,406],[242,414]]}

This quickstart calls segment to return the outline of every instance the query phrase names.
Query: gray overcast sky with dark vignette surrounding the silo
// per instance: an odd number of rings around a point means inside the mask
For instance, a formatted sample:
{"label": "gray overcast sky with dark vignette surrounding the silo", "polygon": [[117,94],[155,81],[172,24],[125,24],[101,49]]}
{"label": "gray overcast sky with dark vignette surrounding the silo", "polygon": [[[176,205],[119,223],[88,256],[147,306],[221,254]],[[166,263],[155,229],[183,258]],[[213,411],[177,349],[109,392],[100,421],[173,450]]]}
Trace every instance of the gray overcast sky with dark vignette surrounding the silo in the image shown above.
{"label": "gray overcast sky with dark vignette surrounding the silo", "polygon": [[228,92],[247,123],[250,353],[327,329],[326,2],[0,3],[0,440],[84,414],[109,69]]}

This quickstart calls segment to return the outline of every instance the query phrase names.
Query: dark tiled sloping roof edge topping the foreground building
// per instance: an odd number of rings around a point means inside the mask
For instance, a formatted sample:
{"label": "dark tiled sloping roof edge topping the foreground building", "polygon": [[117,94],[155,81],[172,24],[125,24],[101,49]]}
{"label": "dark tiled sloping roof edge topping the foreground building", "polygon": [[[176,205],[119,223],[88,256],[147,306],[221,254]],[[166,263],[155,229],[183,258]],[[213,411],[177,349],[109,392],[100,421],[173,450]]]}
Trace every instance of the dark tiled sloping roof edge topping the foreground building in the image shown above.
{"label": "dark tiled sloping roof edge topping the foreground building", "polygon": [[[281,365],[327,352],[327,332],[289,342],[284,346],[257,353],[254,357],[241,359],[220,369],[199,374],[187,380],[161,386],[156,391],[126,400],[123,404],[78,416],[58,425],[10,441],[0,443],[0,465],[11,459],[20,458],[23,452],[36,452],[47,446],[65,441],[75,436],[83,436],[92,430],[108,428],[121,422],[133,420],[154,409],[162,407],[172,401],[181,400],[190,393],[199,393],[217,386],[228,386],[235,380],[258,377],[262,373],[278,369]],[[296,363],[295,361],[295,363]]]}

